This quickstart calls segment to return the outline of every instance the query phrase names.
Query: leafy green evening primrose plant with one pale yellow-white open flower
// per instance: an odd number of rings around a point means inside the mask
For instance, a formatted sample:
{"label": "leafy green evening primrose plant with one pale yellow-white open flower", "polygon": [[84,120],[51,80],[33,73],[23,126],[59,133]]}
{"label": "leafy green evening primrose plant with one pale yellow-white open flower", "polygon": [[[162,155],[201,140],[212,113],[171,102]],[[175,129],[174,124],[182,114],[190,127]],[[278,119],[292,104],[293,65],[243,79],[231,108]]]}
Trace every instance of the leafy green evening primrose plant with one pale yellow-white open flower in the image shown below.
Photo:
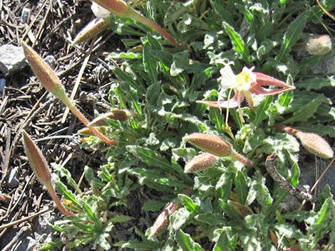
{"label": "leafy green evening primrose plant with one pale yellow-white open flower", "polygon": [[[334,90],[334,75],[313,73],[323,55],[296,53],[311,26],[327,32],[319,5],[95,2],[121,44],[105,58],[113,110],[85,125],[118,144],[103,147],[106,164],[85,167],[81,187],[66,164],[52,165],[77,215],[54,223],[61,237],[48,248],[334,250],[334,191],[311,194],[299,179],[306,162],[334,161],[323,89]],[[82,147],[100,142],[89,139]]]}

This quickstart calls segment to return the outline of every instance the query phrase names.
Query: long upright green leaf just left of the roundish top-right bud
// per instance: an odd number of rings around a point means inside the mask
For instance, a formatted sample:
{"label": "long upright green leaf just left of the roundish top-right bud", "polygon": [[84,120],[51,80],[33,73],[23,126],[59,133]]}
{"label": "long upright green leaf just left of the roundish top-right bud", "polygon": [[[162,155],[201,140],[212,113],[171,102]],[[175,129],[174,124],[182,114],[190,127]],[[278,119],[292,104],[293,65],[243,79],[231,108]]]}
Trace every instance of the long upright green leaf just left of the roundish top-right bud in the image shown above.
{"label": "long upright green leaf just left of the roundish top-right bud", "polygon": [[302,30],[304,29],[307,21],[307,17],[309,16],[309,11],[304,11],[300,14],[292,23],[289,24],[287,28],[287,32],[284,34],[284,43],[279,49],[279,52],[275,58],[275,60],[282,60],[284,55],[291,51],[291,47],[294,43],[299,39]]}

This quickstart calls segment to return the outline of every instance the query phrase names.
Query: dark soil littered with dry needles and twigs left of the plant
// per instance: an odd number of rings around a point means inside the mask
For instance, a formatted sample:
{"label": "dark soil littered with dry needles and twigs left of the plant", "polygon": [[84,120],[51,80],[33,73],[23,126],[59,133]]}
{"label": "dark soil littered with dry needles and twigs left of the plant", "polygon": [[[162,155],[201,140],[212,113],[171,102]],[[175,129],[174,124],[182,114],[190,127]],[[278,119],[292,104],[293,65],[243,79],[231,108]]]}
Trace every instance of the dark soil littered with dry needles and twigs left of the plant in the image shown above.
{"label": "dark soil littered with dry needles and twigs left of the plant", "polygon": [[[30,10],[26,22],[21,18],[24,9]],[[71,47],[76,34],[95,18],[91,1],[4,0],[0,1],[0,11],[0,46],[19,46],[25,41],[43,58],[53,56],[54,69],[69,95],[88,50],[94,46],[94,55],[88,60],[74,100],[88,119],[92,119],[95,110],[99,113],[110,110],[108,90],[113,79],[103,58],[110,48],[118,49],[120,39],[106,31],[92,43]],[[0,225],[6,225],[34,216],[45,208],[53,209],[50,196],[36,181],[29,166],[21,142],[22,129],[38,139],[36,143],[48,163],[61,163],[71,154],[66,166],[76,181],[83,174],[83,166],[98,167],[103,159],[97,158],[98,149],[81,149],[76,132],[83,125],[71,113],[63,119],[65,107],[41,87],[29,66],[9,75],[0,73],[0,78],[6,80],[0,96]],[[60,216],[58,210],[48,215],[49,221]],[[32,240],[43,242],[46,236],[41,235],[51,232],[45,225],[36,216],[0,228],[0,250],[33,250],[29,242],[36,246]],[[14,237],[18,240],[12,241]]]}

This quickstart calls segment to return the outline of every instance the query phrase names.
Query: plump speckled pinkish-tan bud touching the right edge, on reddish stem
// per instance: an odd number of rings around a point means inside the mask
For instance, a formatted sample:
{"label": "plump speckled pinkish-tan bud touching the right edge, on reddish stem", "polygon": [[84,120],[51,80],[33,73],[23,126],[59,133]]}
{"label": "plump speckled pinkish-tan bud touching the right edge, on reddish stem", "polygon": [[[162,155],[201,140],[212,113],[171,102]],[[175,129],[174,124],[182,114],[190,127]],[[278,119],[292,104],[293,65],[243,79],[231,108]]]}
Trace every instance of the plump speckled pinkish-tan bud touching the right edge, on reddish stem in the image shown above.
{"label": "plump speckled pinkish-tan bud touching the right edge, on reddish stem", "polygon": [[331,149],[328,142],[318,134],[297,131],[294,135],[300,139],[301,144],[311,154],[324,159],[333,158],[334,151]]}

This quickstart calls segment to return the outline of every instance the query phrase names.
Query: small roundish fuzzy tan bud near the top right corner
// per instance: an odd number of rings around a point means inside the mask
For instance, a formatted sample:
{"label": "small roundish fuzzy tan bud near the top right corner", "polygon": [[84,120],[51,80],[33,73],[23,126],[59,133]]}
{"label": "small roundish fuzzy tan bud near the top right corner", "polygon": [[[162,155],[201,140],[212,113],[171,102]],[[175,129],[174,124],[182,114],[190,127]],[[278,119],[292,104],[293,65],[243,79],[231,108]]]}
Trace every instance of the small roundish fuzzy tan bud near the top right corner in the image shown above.
{"label": "small roundish fuzzy tan bud near the top right corner", "polygon": [[309,38],[306,49],[311,55],[324,55],[331,50],[331,38],[328,35],[316,35]]}

